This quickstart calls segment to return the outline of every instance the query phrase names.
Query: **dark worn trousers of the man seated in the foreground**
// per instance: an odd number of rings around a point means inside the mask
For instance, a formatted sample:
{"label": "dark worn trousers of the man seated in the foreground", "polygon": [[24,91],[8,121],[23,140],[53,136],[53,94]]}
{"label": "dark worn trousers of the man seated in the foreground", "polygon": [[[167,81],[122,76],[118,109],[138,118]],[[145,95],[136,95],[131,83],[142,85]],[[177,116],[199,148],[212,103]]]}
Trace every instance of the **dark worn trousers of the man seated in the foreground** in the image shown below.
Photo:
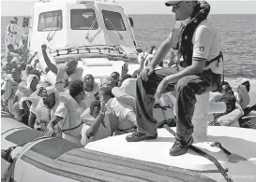
{"label": "dark worn trousers of the man seated in the foreground", "polygon": [[[153,118],[155,93],[160,81],[173,74],[172,68],[156,70],[147,81],[138,77],[136,84],[136,120],[140,133],[157,133],[157,119]],[[182,77],[177,83],[169,84],[164,92],[173,91],[176,97],[176,139],[187,140],[193,133],[191,119],[196,104],[196,95],[206,91],[215,91],[221,82],[221,76],[211,70],[198,76]]]}

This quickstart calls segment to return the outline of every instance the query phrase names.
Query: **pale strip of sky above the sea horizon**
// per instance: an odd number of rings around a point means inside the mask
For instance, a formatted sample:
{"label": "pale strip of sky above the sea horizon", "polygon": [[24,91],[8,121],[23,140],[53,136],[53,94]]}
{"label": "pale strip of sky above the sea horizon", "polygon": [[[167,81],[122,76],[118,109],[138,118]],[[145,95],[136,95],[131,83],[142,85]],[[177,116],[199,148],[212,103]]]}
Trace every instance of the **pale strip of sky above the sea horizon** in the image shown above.
{"label": "pale strip of sky above the sea horizon", "polygon": [[[27,16],[35,0],[1,0],[2,16]],[[165,7],[163,0],[116,0],[128,14],[172,14],[171,7]],[[211,14],[256,14],[256,0],[214,1],[208,0]],[[143,7],[143,8],[142,8]]]}

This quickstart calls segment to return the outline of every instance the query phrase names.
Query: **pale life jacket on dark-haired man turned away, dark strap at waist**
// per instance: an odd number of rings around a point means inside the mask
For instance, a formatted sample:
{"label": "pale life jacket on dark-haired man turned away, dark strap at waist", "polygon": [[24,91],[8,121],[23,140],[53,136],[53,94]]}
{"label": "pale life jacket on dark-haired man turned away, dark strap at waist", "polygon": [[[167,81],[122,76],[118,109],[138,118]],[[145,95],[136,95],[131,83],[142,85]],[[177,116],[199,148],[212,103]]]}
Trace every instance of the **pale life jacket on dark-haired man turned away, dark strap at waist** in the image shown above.
{"label": "pale life jacket on dark-haired man turned away, dark strap at waist", "polygon": [[[80,117],[83,114],[83,110],[85,110],[85,108],[79,105],[68,92],[60,93],[60,102],[62,102],[68,108],[68,117],[70,121],[70,123],[68,123],[68,128],[63,128],[65,127],[66,123],[62,124],[62,132],[74,137],[81,136],[83,122]],[[67,120],[64,122],[66,121]]]}

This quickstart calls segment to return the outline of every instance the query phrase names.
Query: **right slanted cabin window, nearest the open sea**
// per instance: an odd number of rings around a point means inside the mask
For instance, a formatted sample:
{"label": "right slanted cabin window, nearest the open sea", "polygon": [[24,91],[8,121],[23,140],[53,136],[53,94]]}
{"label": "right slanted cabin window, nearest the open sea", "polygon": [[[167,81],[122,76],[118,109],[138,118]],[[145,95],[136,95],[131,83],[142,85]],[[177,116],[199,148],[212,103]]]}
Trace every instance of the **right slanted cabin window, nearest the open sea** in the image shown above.
{"label": "right slanted cabin window, nearest the open sea", "polygon": [[118,12],[102,10],[105,27],[107,30],[126,31],[122,16]]}

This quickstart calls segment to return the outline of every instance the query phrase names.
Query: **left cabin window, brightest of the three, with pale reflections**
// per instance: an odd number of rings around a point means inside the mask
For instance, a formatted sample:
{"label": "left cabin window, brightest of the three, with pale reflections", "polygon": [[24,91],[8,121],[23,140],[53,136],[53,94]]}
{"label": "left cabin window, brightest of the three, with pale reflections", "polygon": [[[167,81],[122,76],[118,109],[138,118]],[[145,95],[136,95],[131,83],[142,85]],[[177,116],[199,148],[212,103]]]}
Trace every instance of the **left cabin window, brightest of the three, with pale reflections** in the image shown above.
{"label": "left cabin window, brightest of the three, with pale reflections", "polygon": [[38,32],[62,29],[62,11],[48,11],[39,14]]}

